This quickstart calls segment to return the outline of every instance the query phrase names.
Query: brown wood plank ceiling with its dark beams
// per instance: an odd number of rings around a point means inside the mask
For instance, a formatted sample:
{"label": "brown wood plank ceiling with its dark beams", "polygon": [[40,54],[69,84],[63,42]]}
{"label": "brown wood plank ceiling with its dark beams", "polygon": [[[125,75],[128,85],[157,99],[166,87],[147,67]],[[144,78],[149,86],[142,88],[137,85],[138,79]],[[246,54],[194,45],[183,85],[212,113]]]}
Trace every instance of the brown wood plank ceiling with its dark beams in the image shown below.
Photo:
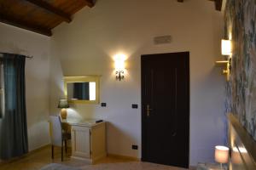
{"label": "brown wood plank ceiling with its dark beams", "polygon": [[[215,2],[216,10],[221,10],[223,0],[210,1]],[[0,0],[0,22],[50,37],[55,26],[71,22],[79,9],[94,5],[95,0]]]}

